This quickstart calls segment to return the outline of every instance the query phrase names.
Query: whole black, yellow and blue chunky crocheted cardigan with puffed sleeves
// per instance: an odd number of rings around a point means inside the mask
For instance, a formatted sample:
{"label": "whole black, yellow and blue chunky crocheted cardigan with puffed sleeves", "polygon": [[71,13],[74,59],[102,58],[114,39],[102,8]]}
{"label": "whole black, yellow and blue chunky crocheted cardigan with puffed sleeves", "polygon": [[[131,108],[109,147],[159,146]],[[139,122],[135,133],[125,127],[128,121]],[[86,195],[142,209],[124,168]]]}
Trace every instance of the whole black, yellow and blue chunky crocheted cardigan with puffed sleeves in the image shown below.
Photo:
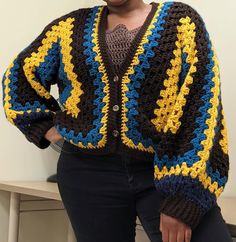
{"label": "whole black, yellow and blue chunky crocheted cardigan with puffed sleeves", "polygon": [[150,4],[117,75],[105,41],[107,5],[49,23],[4,74],[5,115],[41,149],[55,126],[81,152],[153,158],[160,212],[195,228],[228,179],[216,51],[191,6]]}

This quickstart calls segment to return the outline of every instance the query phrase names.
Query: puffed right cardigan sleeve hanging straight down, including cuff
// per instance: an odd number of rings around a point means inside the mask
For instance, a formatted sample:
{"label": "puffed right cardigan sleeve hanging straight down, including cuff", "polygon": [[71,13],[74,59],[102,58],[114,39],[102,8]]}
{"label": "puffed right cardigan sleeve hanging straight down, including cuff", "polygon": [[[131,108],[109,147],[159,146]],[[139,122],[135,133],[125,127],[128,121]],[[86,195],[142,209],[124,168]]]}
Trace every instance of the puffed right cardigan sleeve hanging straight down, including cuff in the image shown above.
{"label": "puffed right cardigan sleeve hanging straight down, including cuff", "polygon": [[181,61],[172,62],[178,88],[155,147],[154,183],[164,194],[159,211],[194,229],[223,192],[229,156],[216,51],[201,16],[184,6]]}

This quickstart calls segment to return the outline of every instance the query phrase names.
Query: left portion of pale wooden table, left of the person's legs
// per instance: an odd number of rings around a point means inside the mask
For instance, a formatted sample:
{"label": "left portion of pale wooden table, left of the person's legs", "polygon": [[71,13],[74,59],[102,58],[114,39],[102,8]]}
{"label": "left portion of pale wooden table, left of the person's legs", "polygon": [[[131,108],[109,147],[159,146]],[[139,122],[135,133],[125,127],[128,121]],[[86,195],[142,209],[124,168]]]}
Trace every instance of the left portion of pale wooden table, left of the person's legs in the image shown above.
{"label": "left portion of pale wooden table, left of the person's legs", "polygon": [[[29,209],[30,211],[64,210],[57,183],[46,181],[1,181],[0,190],[10,192],[8,242],[18,241],[21,212]],[[39,199],[30,199],[27,202],[27,195]],[[76,242],[69,219],[67,241]]]}

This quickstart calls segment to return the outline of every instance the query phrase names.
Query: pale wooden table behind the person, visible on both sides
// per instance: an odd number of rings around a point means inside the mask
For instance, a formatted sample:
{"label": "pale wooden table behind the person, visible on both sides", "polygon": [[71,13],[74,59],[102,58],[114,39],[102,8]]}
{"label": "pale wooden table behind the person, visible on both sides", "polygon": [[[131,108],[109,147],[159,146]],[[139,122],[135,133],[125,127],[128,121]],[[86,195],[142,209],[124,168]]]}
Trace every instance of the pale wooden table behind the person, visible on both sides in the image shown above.
{"label": "pale wooden table behind the person, visible on both sides", "polygon": [[[30,200],[31,209],[35,207],[37,211],[40,210],[55,210],[64,209],[61,197],[58,191],[57,183],[47,181],[0,181],[0,190],[8,191],[10,195],[10,214],[9,214],[9,230],[8,230],[8,242],[18,241],[19,232],[19,215],[21,211],[26,211],[27,200],[23,200],[24,196],[34,196],[41,198]],[[32,203],[36,203],[35,205]],[[236,198],[235,197],[223,197],[218,198],[218,204],[221,207],[221,211],[225,221],[229,224],[236,225]],[[137,227],[143,228],[139,219],[137,218]],[[144,231],[143,231],[144,232]],[[76,242],[71,223],[68,219],[68,242]]]}

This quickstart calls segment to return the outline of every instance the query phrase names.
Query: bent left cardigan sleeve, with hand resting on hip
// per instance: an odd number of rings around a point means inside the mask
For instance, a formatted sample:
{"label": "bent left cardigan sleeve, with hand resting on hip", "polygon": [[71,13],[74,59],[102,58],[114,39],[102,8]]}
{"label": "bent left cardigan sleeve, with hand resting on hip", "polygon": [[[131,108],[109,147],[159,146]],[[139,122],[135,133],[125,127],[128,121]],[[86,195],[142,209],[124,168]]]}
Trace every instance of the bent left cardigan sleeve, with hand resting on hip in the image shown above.
{"label": "bent left cardigan sleeve, with hand resting on hip", "polygon": [[50,94],[51,85],[57,80],[60,60],[56,25],[57,19],[12,58],[2,78],[7,120],[41,149],[50,145],[44,135],[54,126],[53,115],[60,109]]}

